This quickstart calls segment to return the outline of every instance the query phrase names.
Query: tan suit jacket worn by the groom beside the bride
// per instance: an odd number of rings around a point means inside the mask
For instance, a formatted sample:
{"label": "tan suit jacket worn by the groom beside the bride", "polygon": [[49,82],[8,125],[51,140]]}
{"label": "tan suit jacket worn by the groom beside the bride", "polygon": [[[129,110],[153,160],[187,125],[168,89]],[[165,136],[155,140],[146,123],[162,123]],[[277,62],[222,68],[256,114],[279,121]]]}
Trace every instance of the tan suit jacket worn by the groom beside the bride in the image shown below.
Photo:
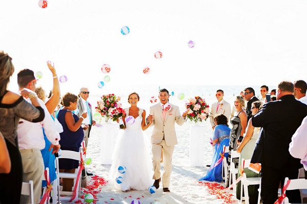
{"label": "tan suit jacket worn by the groom beside the bride", "polygon": [[180,114],[178,106],[171,105],[171,110],[166,112],[165,120],[163,120],[163,114],[161,104],[158,103],[150,107],[149,114],[153,115],[151,125],[154,125],[151,133],[151,143],[159,144],[164,136],[167,146],[174,146],[178,144],[177,135],[175,131],[175,121],[179,125],[183,125],[185,119]]}

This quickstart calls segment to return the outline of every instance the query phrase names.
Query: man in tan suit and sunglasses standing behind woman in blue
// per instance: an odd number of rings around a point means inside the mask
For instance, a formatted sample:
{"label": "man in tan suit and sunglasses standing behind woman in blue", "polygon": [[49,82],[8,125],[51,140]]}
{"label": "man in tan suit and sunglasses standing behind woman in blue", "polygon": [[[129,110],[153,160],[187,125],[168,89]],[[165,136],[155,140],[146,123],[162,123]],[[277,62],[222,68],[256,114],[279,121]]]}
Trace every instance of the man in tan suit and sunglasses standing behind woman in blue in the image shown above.
{"label": "man in tan suit and sunglasses standing behind woman in blue", "polygon": [[223,99],[224,91],[221,90],[221,89],[218,89],[216,91],[215,97],[216,97],[217,101],[212,104],[210,116],[209,116],[212,130],[214,130],[214,127],[215,127],[215,123],[214,123],[214,120],[213,120],[215,115],[223,114],[227,117],[227,119],[229,119],[229,116],[230,116],[230,113],[231,113],[230,104],[225,99]]}

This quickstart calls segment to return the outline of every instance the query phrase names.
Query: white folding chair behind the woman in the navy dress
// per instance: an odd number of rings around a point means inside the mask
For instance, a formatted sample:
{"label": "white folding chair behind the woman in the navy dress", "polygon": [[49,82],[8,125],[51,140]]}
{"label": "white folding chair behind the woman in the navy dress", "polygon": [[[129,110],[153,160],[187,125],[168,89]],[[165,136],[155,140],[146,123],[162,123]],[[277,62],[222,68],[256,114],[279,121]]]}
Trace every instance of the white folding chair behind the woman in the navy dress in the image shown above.
{"label": "white folding chair behind the woman in the navy dress", "polygon": [[[82,157],[83,157],[83,154],[82,154]],[[73,159],[73,160],[81,161],[81,156],[80,156],[80,152],[77,152],[77,151],[62,150],[62,155],[59,156],[59,159]],[[75,173],[59,172],[59,177],[61,178],[74,179],[74,188],[77,188],[78,190],[76,191],[77,195],[73,201],[78,200],[78,196],[80,195],[80,191],[81,191],[81,174],[80,174],[79,182],[76,183],[77,174],[78,174],[79,169],[80,169],[80,166],[76,169]],[[72,194],[73,192],[69,192],[69,191],[60,191],[59,193],[59,195],[72,195]],[[58,196],[58,198],[59,198],[59,201],[70,199],[70,197],[61,197],[61,196]]]}

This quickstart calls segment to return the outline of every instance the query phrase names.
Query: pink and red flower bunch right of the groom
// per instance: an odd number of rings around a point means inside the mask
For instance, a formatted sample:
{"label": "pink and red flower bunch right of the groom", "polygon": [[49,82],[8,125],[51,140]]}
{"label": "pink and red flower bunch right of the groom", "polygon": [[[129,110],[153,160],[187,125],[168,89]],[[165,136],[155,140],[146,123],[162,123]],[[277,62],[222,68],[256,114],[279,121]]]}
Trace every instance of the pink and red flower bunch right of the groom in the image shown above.
{"label": "pink and red flower bunch right of the groom", "polygon": [[187,114],[188,119],[194,121],[195,123],[198,121],[207,120],[209,117],[209,105],[206,103],[205,99],[200,96],[195,96],[194,98],[190,98],[186,103],[186,108],[189,108],[190,111]]}

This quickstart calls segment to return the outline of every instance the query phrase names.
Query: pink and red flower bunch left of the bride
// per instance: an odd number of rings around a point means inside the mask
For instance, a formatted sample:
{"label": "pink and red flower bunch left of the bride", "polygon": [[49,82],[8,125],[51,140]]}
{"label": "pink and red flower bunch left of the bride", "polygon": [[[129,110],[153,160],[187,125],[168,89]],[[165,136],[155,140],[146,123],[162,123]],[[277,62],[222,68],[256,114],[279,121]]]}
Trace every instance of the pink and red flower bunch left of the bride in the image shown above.
{"label": "pink and red flower bunch left of the bride", "polygon": [[119,103],[120,97],[116,96],[114,93],[101,96],[101,99],[97,101],[97,107],[95,107],[96,112],[101,114],[101,117],[105,118],[107,122],[108,119],[116,121],[117,118],[122,117],[126,114],[125,110],[121,108],[121,103]]}

